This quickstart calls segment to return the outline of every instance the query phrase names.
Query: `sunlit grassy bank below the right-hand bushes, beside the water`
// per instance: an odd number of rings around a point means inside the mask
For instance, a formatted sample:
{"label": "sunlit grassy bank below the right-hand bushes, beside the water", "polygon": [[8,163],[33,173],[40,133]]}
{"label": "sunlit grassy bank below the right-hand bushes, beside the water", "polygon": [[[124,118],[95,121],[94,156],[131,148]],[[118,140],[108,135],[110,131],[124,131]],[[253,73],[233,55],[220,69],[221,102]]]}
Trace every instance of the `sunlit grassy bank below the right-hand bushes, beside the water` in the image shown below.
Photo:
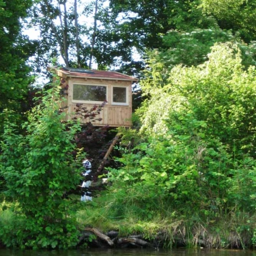
{"label": "sunlit grassy bank below the right-hand bushes, beside the water", "polygon": [[76,216],[81,228],[93,226],[102,232],[117,230],[121,237],[141,234],[147,241],[159,243],[161,247],[253,247],[254,213],[235,209],[221,213],[216,210],[211,216],[205,216],[202,212],[194,212],[193,208],[186,209],[186,206],[173,209],[161,199],[143,208],[135,199],[122,200],[115,193],[105,191],[93,203],[81,205]]}

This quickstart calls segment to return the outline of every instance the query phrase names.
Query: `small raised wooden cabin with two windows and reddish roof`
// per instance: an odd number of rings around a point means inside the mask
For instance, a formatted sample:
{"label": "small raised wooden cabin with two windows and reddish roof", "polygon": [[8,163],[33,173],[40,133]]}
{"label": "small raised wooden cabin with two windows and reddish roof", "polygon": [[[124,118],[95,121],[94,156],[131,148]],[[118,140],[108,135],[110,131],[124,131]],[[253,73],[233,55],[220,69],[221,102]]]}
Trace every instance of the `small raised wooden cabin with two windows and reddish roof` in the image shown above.
{"label": "small raised wooden cabin with two windows and reddish roof", "polygon": [[[137,78],[115,71],[66,67],[49,67],[49,70],[61,77],[61,86],[66,89],[67,118],[78,117],[82,123],[92,121],[96,126],[131,126],[131,85]],[[96,118],[88,120],[88,115],[77,116],[77,106],[87,112],[96,108]],[[102,110],[98,111],[100,106]]]}

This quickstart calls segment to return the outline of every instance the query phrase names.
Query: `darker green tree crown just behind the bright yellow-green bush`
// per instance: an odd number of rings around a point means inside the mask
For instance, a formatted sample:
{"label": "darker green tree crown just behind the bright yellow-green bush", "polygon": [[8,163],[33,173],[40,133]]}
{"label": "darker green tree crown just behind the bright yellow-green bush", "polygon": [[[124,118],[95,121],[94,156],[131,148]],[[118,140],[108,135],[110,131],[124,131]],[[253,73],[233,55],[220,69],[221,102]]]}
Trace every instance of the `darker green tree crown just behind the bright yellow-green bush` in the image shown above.
{"label": "darker green tree crown just behind the bright yellow-green bush", "polygon": [[143,71],[144,79],[141,81],[144,96],[154,94],[152,87],[166,85],[175,65],[191,67],[207,61],[211,47],[218,42],[233,42],[238,46],[243,68],[248,69],[255,65],[255,43],[245,44],[230,31],[225,32],[218,27],[195,29],[191,32],[170,30],[163,36],[162,47],[147,53],[148,65]]}

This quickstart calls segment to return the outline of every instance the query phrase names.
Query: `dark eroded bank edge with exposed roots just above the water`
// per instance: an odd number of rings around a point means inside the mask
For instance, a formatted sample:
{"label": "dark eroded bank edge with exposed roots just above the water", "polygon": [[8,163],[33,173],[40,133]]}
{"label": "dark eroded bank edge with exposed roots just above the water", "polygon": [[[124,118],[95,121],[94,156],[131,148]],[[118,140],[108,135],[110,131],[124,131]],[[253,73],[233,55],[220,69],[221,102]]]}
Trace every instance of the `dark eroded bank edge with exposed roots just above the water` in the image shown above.
{"label": "dark eroded bank edge with exposed roots just above the water", "polygon": [[[203,234],[204,233],[204,234]],[[138,249],[166,249],[166,248],[201,248],[201,249],[253,249],[249,234],[240,236],[235,232],[227,237],[220,237],[220,234],[205,234],[206,230],[201,230],[201,234],[191,234],[191,238],[185,238],[183,234],[171,237],[166,231],[159,231],[155,237],[147,238],[144,234],[130,234],[119,236],[116,230],[110,230],[103,234],[96,228],[85,228],[79,237],[77,247],[90,248],[138,248]]]}

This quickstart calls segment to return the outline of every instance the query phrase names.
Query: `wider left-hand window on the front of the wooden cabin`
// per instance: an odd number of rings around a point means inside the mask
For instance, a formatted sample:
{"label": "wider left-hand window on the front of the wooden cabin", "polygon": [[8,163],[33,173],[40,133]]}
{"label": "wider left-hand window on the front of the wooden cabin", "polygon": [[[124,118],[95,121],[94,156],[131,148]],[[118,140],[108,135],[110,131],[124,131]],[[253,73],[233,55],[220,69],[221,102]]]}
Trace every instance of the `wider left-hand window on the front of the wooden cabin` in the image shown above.
{"label": "wider left-hand window on the front of the wooden cabin", "polygon": [[104,102],[106,86],[73,84],[73,102]]}

